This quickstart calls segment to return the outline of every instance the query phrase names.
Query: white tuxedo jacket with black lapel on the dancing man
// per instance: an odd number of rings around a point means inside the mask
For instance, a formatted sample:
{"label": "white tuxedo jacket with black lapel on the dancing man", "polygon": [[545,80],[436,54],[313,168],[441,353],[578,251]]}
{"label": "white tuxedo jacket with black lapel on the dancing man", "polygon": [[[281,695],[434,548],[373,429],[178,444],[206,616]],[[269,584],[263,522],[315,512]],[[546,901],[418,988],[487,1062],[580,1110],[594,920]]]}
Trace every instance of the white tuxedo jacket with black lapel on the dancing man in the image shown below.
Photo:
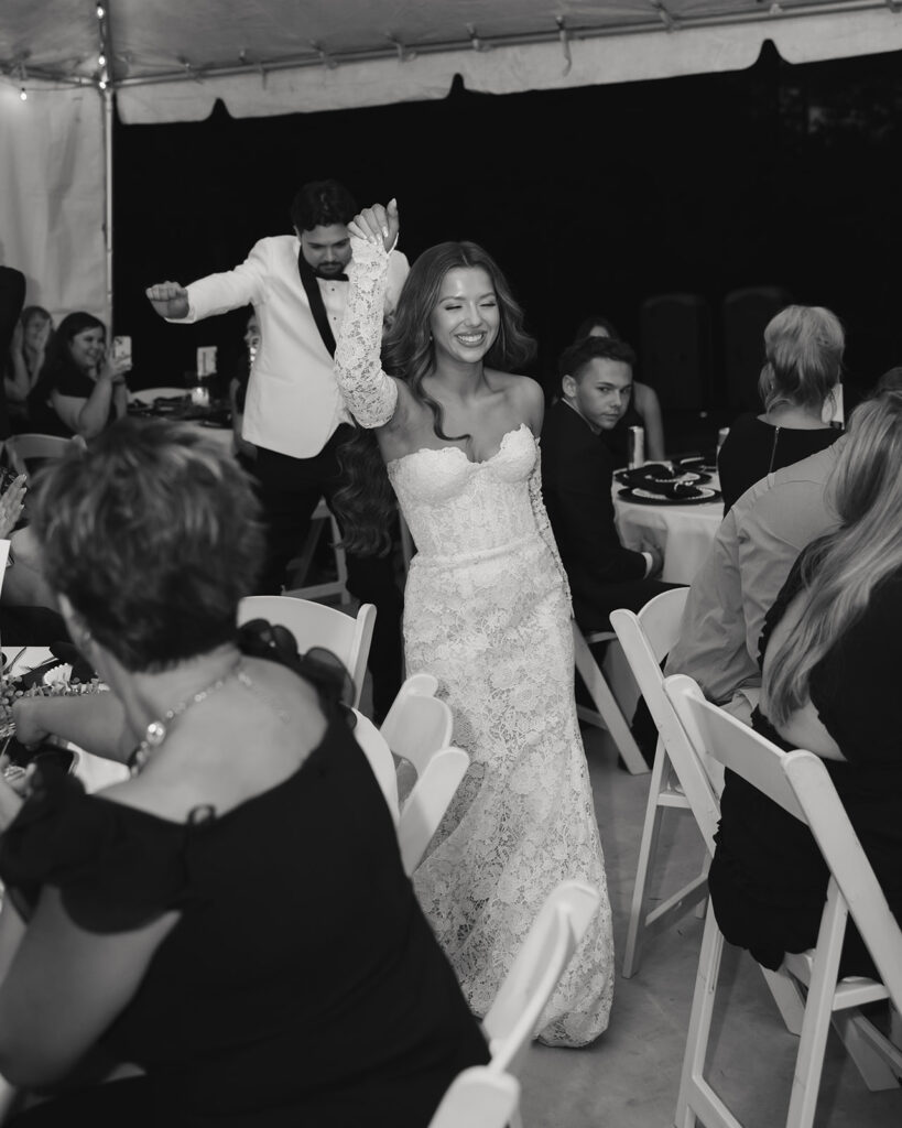
{"label": "white tuxedo jacket with black lapel on the dancing man", "polygon": [[[245,403],[244,438],[292,458],[312,458],[339,423],[351,418],[333,374],[333,360],[319,334],[298,272],[300,240],[277,235],[254,245],[244,263],[187,287],[188,315],[198,321],[251,305],[260,326]],[[387,310],[393,309],[409,270],[391,253]],[[347,282],[318,280],[333,334],[338,336]],[[173,318],[175,320],[175,318]]]}

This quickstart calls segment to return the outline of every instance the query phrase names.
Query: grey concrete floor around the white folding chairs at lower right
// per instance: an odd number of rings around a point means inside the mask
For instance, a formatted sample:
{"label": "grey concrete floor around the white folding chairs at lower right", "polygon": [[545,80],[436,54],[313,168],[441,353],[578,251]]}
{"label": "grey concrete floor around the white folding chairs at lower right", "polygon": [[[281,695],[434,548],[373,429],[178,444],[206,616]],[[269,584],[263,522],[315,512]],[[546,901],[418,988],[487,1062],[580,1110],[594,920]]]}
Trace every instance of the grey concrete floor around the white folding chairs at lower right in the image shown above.
{"label": "grey concrete floor around the white folding chairs at lower right", "polygon": [[[584,729],[621,963],[649,776],[616,766],[607,734]],[[669,811],[661,856],[670,892],[700,865],[691,817]],[[654,890],[653,890],[654,893]],[[527,1128],[666,1128],[673,1123],[702,922],[691,913],[648,943],[638,972],[619,975],[608,1031],[582,1050],[534,1045],[522,1082]],[[707,1076],[746,1128],[785,1122],[797,1039],[782,1026],[751,958],[725,950]],[[831,1032],[817,1128],[897,1128],[902,1089],[870,1093]],[[475,1126],[476,1128],[476,1126]]]}

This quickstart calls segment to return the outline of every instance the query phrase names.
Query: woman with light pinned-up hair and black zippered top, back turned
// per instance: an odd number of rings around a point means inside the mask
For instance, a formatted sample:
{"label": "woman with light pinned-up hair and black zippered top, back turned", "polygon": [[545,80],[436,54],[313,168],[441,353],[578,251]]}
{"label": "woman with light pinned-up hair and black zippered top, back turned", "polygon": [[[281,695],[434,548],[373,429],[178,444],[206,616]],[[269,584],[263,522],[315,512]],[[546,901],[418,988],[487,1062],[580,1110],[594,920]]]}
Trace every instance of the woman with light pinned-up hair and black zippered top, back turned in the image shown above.
{"label": "woman with light pinned-up hair and black zippered top, back turned", "polygon": [[840,437],[821,416],[840,381],[844,345],[839,319],[820,306],[787,306],[770,319],[758,381],[764,412],[740,415],[717,456],[724,513],[755,482]]}

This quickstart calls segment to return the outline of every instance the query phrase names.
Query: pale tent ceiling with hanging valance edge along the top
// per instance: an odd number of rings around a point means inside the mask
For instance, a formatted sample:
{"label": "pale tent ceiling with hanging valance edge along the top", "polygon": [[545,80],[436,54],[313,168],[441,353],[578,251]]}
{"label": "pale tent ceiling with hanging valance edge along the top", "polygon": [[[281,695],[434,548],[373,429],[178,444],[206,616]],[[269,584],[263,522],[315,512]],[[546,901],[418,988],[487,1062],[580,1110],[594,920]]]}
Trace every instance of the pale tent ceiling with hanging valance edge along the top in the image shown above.
{"label": "pale tent ceiling with hanging valance edge along the top", "polygon": [[[507,92],[902,47],[899,0],[3,0],[8,81],[97,81],[126,121]],[[38,83],[39,85],[39,83]]]}

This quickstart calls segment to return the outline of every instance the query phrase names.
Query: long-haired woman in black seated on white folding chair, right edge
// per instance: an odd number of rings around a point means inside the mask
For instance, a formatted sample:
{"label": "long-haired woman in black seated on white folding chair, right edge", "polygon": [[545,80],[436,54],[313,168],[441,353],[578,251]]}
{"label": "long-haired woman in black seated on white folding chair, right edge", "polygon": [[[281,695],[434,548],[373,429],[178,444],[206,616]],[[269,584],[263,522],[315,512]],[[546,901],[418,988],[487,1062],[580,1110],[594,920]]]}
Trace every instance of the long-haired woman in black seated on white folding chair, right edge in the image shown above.
{"label": "long-haired woman in black seated on white folding chair, right edge", "polygon": [[[824,758],[902,920],[902,393],[856,408],[830,488],[840,525],[803,552],[768,615],[752,723]],[[815,945],[828,872],[814,839],[731,773],[708,880],[722,932],[764,967]],[[875,973],[851,923],[840,972]]]}

